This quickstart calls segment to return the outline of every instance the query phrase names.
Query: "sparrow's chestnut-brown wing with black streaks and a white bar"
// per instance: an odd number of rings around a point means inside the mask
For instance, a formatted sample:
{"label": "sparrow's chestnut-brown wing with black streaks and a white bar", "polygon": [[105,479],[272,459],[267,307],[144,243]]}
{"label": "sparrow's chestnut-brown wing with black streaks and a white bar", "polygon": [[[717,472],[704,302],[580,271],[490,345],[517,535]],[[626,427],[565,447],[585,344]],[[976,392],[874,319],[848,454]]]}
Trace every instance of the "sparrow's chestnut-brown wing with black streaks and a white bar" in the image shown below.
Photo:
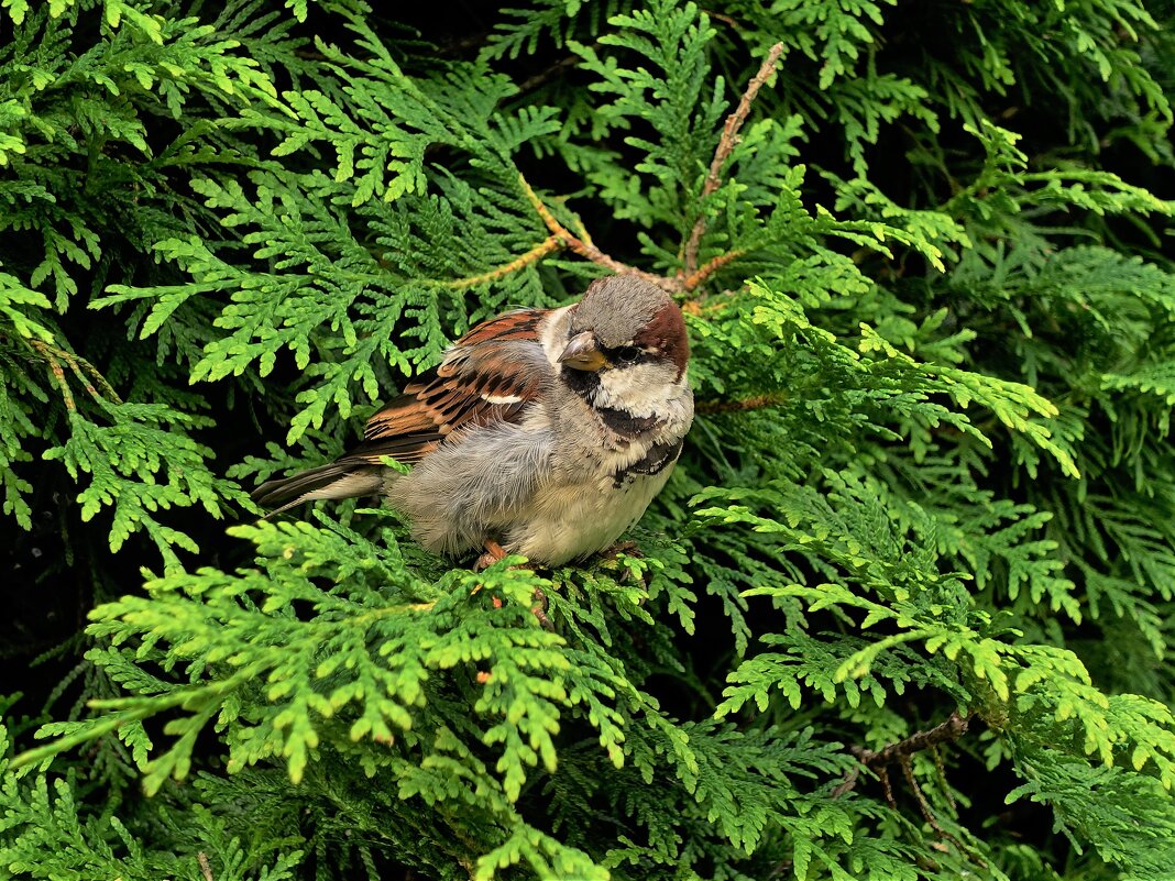
{"label": "sparrow's chestnut-brown wing with black streaks and a white bar", "polygon": [[523,309],[470,330],[439,366],[368,419],[363,443],[340,464],[377,463],[381,456],[412,464],[457,429],[519,421],[550,371],[538,341],[546,315]]}

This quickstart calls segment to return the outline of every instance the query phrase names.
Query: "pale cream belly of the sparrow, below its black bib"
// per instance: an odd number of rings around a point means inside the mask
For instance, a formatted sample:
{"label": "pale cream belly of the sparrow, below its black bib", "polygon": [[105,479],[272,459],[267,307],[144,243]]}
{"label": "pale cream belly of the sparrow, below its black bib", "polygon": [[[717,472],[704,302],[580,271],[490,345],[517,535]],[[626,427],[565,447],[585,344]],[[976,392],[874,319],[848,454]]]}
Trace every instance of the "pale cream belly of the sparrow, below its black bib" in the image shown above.
{"label": "pale cream belly of the sparrow, below its black bib", "polygon": [[504,546],[549,565],[610,547],[644,515],[673,465],[656,475],[634,475],[616,486],[612,476],[593,484],[546,486],[533,497],[536,515],[513,524]]}

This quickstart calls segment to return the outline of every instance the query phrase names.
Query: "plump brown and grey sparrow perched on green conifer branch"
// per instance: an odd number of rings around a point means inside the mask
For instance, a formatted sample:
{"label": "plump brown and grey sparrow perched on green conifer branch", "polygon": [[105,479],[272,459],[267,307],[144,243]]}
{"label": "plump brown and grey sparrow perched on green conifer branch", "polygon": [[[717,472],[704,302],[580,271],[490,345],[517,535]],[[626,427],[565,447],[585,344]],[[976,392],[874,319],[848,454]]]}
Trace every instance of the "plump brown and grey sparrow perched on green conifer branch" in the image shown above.
{"label": "plump brown and grey sparrow perched on green conifer branch", "polygon": [[[457,339],[335,462],[263,483],[269,516],[381,493],[427,550],[555,566],[609,549],[660,492],[693,422],[678,305],[632,275]],[[381,460],[410,465],[404,473]]]}

